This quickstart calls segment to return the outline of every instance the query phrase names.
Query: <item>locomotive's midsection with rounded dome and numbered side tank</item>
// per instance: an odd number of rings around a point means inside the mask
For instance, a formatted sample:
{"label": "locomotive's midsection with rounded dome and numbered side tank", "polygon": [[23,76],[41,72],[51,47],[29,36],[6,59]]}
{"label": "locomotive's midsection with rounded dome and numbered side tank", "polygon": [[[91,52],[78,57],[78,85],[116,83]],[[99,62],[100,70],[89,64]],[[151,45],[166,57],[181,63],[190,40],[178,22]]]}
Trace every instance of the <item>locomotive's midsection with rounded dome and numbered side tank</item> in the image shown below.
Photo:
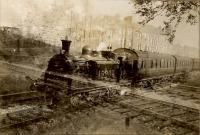
{"label": "locomotive's midsection with rounded dome and numbered side tank", "polygon": [[118,63],[113,59],[112,52],[93,51],[89,46],[84,46],[80,58],[85,61],[83,67],[93,79],[115,78]]}

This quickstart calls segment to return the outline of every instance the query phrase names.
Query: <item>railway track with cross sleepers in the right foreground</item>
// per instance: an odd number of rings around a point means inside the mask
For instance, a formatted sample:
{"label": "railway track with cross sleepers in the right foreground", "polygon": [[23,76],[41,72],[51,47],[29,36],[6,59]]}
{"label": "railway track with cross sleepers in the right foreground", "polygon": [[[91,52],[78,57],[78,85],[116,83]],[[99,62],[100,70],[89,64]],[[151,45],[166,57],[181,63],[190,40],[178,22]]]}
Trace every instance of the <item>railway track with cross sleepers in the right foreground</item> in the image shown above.
{"label": "railway track with cross sleepers in the right foreground", "polygon": [[125,100],[104,105],[103,109],[119,113],[125,119],[126,126],[130,125],[131,120],[137,119],[151,129],[163,133],[168,129],[168,134],[199,134],[200,111],[193,108],[129,95]]}

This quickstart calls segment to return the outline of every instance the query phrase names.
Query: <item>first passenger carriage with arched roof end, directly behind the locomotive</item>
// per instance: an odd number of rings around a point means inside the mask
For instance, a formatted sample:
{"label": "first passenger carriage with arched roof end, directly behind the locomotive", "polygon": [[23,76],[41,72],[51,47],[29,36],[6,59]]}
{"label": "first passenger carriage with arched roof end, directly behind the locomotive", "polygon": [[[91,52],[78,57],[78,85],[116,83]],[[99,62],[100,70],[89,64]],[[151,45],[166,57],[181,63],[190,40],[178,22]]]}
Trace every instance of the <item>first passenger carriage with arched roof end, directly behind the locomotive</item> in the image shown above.
{"label": "first passenger carriage with arched roof end, directly behind the locomotive", "polygon": [[[175,73],[175,58],[171,55],[127,48],[118,48],[114,50],[114,53],[116,53],[116,56],[124,58],[124,74],[132,79],[136,74],[140,76],[139,78],[151,78]],[[127,69],[127,67],[130,68]],[[131,72],[131,74],[128,72]]]}

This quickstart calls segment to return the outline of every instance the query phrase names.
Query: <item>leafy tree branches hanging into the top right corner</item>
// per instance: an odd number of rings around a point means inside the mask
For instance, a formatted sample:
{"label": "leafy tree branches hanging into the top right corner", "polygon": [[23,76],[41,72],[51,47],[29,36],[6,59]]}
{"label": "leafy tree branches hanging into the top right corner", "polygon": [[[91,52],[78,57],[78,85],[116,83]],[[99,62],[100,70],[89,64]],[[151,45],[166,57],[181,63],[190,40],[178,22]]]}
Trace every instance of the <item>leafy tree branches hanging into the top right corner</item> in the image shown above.
{"label": "leafy tree branches hanging into the top right corner", "polygon": [[136,13],[142,17],[139,23],[145,25],[158,16],[165,16],[162,31],[169,42],[175,38],[176,28],[180,22],[191,25],[198,23],[200,15],[199,0],[130,0]]}

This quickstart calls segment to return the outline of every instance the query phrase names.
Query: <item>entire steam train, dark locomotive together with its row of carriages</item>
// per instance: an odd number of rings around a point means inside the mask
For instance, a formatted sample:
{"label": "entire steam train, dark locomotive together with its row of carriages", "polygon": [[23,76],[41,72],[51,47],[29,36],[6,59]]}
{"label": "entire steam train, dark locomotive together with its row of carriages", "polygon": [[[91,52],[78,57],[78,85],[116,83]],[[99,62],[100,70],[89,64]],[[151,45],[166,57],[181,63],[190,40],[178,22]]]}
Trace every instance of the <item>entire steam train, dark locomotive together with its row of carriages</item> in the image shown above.
{"label": "entire steam train, dark locomotive together with its row of carriages", "polygon": [[[114,51],[93,51],[89,46],[82,48],[80,57],[70,55],[69,40],[62,40],[62,52],[53,56],[48,63],[44,80],[55,78],[50,72],[76,74],[92,79],[158,80],[174,77],[183,72],[200,69],[200,60],[148,51],[118,48]],[[168,78],[169,79],[169,78]]]}

